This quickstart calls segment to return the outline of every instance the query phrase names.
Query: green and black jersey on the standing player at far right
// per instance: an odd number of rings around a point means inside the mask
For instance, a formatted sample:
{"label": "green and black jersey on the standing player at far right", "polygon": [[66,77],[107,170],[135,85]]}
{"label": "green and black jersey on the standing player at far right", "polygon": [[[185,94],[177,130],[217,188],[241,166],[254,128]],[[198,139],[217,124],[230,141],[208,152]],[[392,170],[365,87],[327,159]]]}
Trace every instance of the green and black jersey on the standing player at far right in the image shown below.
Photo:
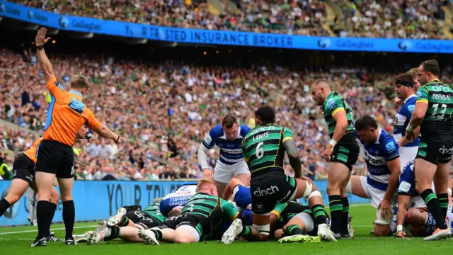
{"label": "green and black jersey on the standing player at far right", "polygon": [[452,137],[453,89],[439,80],[428,82],[417,91],[417,102],[428,103],[423,122],[420,125],[425,135]]}

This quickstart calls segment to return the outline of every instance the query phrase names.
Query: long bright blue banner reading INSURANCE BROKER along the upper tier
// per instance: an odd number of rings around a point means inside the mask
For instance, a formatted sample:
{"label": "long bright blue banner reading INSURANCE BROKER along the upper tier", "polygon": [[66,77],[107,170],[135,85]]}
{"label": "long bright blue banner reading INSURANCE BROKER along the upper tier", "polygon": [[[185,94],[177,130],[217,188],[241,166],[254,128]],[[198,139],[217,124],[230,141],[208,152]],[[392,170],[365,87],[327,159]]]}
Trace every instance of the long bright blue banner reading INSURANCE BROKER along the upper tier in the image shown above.
{"label": "long bright blue banner reading INSURANCE BROKER along the upper tier", "polygon": [[332,38],[280,35],[224,30],[202,30],[149,26],[96,18],[66,16],[0,0],[0,16],[42,26],[84,33],[168,42],[278,47],[304,50],[343,50],[367,52],[453,53],[453,40],[412,40],[384,38]]}

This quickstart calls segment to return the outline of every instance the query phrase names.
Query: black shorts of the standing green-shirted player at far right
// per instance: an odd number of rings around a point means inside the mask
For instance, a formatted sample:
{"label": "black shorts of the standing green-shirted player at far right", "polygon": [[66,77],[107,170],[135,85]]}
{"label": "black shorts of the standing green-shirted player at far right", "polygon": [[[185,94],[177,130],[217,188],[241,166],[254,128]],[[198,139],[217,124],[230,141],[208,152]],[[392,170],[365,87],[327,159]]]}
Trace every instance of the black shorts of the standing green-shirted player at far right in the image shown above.
{"label": "black shorts of the standing green-shirted player at far right", "polygon": [[451,135],[443,137],[425,137],[420,138],[418,144],[418,159],[425,159],[432,164],[445,164],[452,160],[453,139]]}

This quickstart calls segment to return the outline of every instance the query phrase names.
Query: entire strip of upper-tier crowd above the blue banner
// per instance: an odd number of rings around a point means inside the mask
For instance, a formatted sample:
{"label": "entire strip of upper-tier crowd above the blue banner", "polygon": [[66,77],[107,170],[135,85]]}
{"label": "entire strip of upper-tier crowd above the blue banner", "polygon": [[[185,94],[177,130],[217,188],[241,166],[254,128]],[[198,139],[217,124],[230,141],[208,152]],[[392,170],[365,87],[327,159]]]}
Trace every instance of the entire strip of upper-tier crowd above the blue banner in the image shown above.
{"label": "entire strip of upper-tier crowd above the blue banner", "polygon": [[[210,12],[206,0],[13,1],[54,13],[179,28],[327,36],[326,1],[236,0],[237,8]],[[222,1],[219,1],[222,2]],[[338,36],[439,38],[445,0],[340,0],[343,16],[330,23]],[[352,5],[350,4],[352,3]]]}

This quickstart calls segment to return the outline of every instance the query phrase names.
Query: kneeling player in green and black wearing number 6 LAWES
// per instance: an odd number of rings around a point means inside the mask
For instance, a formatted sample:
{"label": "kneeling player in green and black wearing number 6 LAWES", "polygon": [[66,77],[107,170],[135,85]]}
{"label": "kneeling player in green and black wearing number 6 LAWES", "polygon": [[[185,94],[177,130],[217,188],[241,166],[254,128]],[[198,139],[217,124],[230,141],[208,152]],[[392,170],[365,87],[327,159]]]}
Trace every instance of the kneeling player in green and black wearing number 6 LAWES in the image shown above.
{"label": "kneeling player in green and black wearing number 6 LAWES", "polygon": [[[313,181],[302,176],[299,152],[289,128],[275,125],[275,111],[262,106],[255,112],[256,127],[242,142],[243,158],[251,170],[253,227],[260,232],[260,240],[270,234],[270,212],[277,203],[307,198],[316,215],[318,234],[322,239],[336,241],[326,222],[323,199]],[[285,152],[294,169],[294,177],[283,170]]]}

